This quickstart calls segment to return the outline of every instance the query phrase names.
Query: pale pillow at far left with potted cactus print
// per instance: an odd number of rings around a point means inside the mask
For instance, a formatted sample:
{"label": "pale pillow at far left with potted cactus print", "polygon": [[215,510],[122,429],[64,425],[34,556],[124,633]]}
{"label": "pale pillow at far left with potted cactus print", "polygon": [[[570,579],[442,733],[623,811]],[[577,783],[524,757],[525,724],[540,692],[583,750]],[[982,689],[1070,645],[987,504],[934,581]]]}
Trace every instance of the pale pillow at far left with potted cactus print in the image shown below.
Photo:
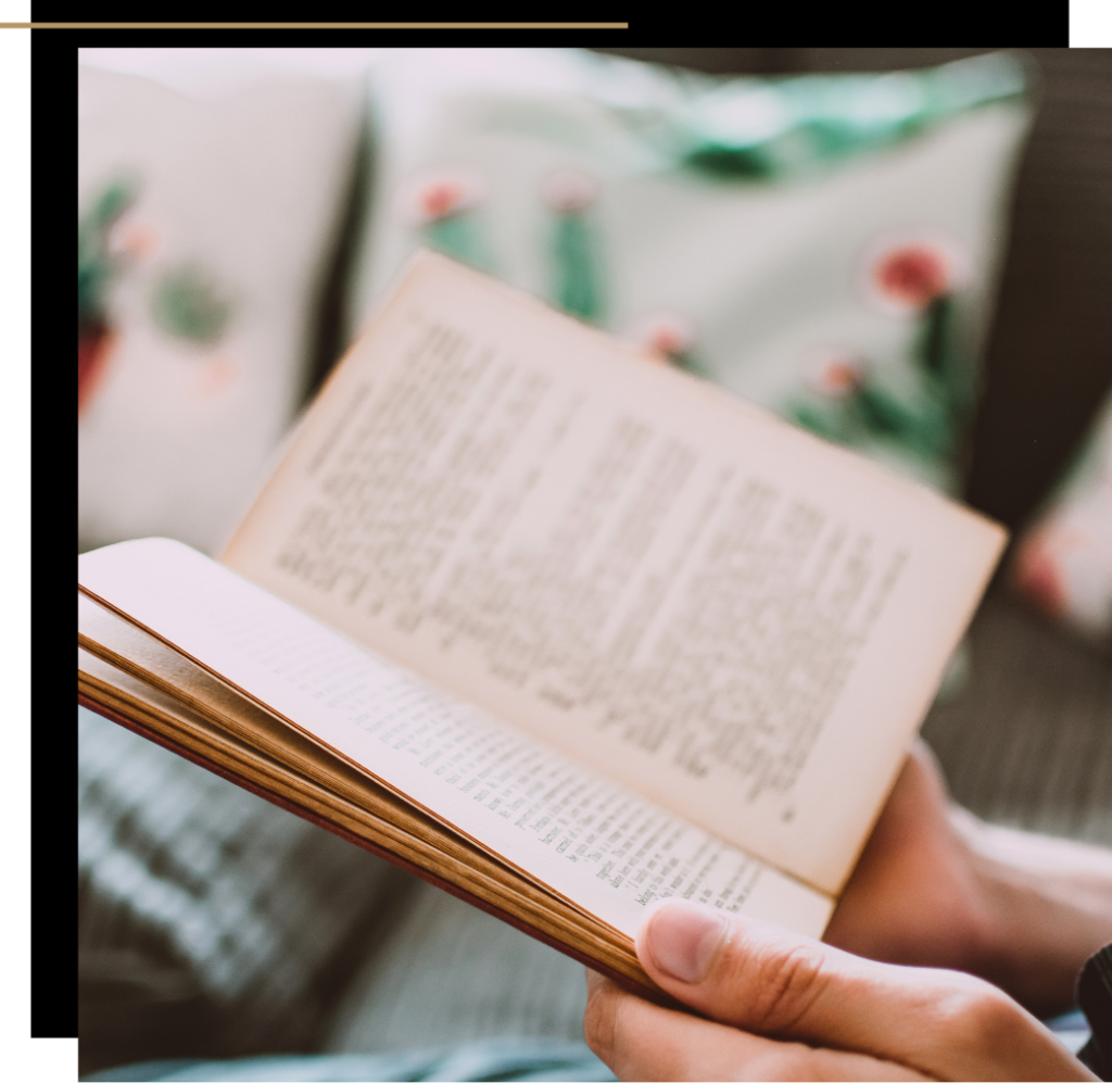
{"label": "pale pillow at far left with potted cactus print", "polygon": [[359,83],[212,52],[80,58],[81,548],[215,552],[300,405]]}

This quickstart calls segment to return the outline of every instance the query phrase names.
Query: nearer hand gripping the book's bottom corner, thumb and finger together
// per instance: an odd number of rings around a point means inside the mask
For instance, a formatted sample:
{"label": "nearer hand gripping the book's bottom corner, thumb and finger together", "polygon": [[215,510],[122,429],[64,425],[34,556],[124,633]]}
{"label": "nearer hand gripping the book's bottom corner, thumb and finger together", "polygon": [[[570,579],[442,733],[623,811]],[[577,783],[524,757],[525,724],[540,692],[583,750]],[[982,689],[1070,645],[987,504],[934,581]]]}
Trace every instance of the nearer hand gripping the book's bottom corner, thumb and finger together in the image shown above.
{"label": "nearer hand gripping the book's bottom corner, thumb and finger together", "polygon": [[705,1019],[588,972],[587,1043],[633,1080],[1092,1080],[1033,1016],[953,971],[860,958],[667,900],[637,955]]}

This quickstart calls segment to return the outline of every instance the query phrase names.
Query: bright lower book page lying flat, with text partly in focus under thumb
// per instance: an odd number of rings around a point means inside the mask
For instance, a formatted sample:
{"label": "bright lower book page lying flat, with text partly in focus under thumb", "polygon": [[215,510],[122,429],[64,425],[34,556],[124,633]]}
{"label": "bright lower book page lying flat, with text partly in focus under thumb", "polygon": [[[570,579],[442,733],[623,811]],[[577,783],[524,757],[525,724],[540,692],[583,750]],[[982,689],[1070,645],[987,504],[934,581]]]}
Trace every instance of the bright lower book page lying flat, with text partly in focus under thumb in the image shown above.
{"label": "bright lower book page lying flat, with text partly in focus under thumb", "polygon": [[808,935],[833,902],[380,660],[178,543],[79,558],[96,598],[618,932],[679,895]]}

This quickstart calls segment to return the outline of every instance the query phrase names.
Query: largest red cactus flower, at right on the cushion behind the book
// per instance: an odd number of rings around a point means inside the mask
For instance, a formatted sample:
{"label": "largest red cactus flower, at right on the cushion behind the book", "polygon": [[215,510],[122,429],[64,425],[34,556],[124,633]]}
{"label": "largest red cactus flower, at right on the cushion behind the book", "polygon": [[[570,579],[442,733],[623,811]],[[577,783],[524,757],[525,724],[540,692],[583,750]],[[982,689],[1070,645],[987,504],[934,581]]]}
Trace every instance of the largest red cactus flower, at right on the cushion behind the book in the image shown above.
{"label": "largest red cactus flower, at right on the cushion behind the book", "polygon": [[890,235],[866,254],[864,292],[888,315],[914,315],[967,281],[956,241],[937,232]]}

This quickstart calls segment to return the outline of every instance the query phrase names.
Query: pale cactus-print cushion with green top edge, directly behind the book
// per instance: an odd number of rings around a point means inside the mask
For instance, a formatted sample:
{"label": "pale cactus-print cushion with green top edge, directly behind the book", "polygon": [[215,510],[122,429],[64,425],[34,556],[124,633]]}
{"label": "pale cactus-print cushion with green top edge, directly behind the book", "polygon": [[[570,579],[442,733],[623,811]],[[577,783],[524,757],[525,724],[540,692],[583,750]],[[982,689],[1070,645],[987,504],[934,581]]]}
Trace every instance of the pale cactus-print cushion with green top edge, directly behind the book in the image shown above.
{"label": "pale cactus-print cushion with green top edge, directly behind the book", "polygon": [[1025,78],[399,50],[370,85],[356,311],[428,245],[957,491]]}

